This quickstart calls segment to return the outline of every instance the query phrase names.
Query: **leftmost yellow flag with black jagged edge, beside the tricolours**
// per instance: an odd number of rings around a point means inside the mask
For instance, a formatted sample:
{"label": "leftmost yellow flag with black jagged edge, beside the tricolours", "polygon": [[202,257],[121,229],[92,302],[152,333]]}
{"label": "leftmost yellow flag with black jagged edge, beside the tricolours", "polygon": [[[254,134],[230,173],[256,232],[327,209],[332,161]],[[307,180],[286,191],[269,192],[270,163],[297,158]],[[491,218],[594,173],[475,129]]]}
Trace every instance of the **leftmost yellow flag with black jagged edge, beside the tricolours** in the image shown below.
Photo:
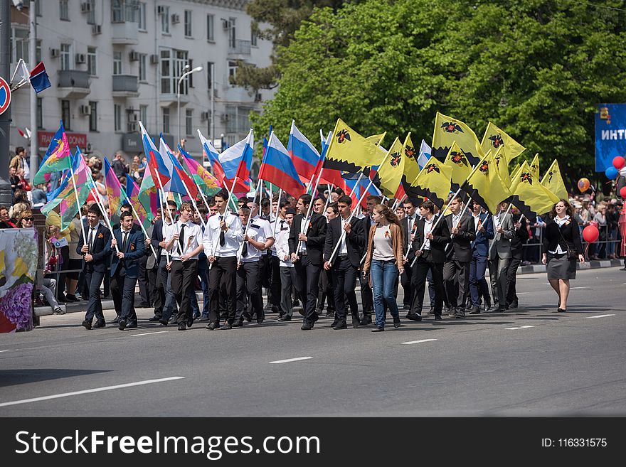
{"label": "leftmost yellow flag with black jagged edge, beside the tricolours", "polygon": [[343,120],[337,119],[324,159],[324,168],[358,173],[380,159],[376,144],[351,129]]}

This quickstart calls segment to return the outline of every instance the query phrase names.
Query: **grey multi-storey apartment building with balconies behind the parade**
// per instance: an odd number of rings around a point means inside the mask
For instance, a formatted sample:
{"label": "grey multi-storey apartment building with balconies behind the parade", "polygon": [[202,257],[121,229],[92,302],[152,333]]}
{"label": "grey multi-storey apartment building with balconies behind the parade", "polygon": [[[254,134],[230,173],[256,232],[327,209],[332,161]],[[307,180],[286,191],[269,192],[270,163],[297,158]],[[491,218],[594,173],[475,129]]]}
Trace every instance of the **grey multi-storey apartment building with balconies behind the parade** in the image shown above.
{"label": "grey multi-storey apartment building with balconies behind the parade", "polygon": [[[273,94],[229,82],[240,61],[270,64],[272,43],[253,34],[247,3],[39,0],[35,60],[28,57],[28,9],[12,7],[11,73],[19,58],[29,69],[41,60],[52,84],[37,95],[37,128],[31,129],[41,154],[59,119],[70,146],[95,156],[121,150],[128,159],[142,152],[139,121],[172,147],[180,134],[197,158],[197,129],[216,147],[245,138],[250,112],[260,112]],[[18,130],[30,126],[30,92],[29,86],[14,92],[11,149],[28,146]]]}

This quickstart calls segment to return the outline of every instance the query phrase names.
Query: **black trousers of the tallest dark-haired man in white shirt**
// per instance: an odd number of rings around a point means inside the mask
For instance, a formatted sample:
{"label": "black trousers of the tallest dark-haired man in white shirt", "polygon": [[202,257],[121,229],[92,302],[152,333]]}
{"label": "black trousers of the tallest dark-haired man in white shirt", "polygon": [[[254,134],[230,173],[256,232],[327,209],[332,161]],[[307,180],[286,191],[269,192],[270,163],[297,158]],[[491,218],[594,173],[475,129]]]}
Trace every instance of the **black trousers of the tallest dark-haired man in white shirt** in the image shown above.
{"label": "black trousers of the tallest dark-haired man in white shirt", "polygon": [[208,272],[209,312],[208,319],[219,323],[223,316],[228,323],[235,322],[235,299],[237,296],[237,258],[216,257]]}

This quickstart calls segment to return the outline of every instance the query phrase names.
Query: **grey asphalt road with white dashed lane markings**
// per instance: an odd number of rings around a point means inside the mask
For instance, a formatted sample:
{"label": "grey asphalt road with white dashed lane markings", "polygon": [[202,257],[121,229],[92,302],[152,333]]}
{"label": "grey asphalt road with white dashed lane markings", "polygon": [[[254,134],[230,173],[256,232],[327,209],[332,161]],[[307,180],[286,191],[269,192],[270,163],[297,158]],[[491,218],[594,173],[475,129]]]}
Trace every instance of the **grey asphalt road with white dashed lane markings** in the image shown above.
{"label": "grey asphalt road with white dashed lane markings", "polygon": [[149,309],[127,331],[44,316],[0,335],[0,416],[625,416],[626,272],[579,271],[568,313],[545,274],[517,284],[507,313],[384,333],[330,318],[304,332],[276,314],[184,332],[149,323]]}

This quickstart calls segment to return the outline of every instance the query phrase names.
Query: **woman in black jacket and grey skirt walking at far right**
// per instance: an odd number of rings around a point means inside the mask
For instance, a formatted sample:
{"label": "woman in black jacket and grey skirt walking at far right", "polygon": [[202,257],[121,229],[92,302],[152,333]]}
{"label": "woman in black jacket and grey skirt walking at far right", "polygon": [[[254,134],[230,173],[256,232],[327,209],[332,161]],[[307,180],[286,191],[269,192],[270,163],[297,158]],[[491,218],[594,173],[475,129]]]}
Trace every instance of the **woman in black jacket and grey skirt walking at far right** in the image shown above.
{"label": "woman in black jacket and grey skirt walking at far right", "polygon": [[548,282],[558,295],[556,311],[567,311],[570,279],[576,279],[576,262],[585,262],[583,244],[580,242],[578,223],[573,220],[573,210],[566,200],[552,208],[551,220],[543,233],[543,259],[547,264]]}

